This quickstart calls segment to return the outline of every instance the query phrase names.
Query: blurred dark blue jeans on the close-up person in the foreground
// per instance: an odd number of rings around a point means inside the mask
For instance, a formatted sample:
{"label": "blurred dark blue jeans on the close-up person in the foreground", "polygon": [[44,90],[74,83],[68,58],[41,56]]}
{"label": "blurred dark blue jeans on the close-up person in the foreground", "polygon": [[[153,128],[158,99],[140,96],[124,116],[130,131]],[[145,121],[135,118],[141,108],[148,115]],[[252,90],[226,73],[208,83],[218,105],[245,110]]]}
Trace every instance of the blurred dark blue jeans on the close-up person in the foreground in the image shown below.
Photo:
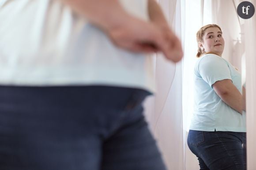
{"label": "blurred dark blue jeans on the close-up person in the foreground", "polygon": [[165,170],[139,89],[0,86],[0,170]]}

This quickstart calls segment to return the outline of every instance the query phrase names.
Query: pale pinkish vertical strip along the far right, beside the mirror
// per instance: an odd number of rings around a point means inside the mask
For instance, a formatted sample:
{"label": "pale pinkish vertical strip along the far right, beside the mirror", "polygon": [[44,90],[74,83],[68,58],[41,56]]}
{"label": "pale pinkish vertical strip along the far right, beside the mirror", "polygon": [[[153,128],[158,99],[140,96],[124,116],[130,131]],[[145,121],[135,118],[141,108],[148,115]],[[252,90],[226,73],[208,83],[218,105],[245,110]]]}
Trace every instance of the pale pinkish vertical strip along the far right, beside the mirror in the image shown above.
{"label": "pale pinkish vertical strip along the far right, beside the mirror", "polygon": [[[256,0],[249,0],[256,7]],[[256,14],[244,22],[246,59],[247,170],[256,168]]]}

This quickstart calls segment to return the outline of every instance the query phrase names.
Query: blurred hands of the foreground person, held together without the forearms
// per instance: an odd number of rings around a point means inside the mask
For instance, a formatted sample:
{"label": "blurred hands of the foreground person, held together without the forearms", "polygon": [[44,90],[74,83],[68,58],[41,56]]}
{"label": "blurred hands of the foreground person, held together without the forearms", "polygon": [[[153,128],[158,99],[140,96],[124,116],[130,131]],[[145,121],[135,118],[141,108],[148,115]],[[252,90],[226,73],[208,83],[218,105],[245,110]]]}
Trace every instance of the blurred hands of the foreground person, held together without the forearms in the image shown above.
{"label": "blurred hands of the foreground person, held together without the forearms", "polygon": [[118,47],[133,52],[162,52],[175,63],[183,56],[181,42],[168,26],[130,16],[119,25],[106,29],[106,33]]}

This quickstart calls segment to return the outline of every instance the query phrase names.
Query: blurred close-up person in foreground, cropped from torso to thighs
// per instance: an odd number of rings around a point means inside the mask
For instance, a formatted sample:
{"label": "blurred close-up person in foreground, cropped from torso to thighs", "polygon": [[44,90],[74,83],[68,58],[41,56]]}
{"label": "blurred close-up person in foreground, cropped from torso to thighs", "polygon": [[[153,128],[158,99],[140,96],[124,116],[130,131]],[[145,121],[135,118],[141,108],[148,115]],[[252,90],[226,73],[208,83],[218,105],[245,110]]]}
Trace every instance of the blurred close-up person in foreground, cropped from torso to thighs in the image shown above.
{"label": "blurred close-up person in foreground, cropped from torso to thighs", "polygon": [[0,0],[0,169],[165,170],[152,52],[183,55],[154,0]]}

